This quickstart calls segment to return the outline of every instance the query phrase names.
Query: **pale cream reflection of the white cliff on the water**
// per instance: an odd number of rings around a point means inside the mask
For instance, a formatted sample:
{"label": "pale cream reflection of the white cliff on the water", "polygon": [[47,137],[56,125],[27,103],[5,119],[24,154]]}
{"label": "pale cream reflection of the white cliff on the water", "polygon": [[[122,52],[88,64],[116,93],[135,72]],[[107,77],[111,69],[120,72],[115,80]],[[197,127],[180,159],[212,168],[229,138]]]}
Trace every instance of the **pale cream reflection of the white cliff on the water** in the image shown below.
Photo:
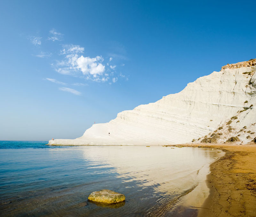
{"label": "pale cream reflection of the white cliff on the water", "polygon": [[211,149],[161,146],[94,146],[83,154],[85,159],[97,159],[93,168],[115,167],[123,182],[140,181],[143,186],[175,194],[199,182],[198,170],[221,155]]}

